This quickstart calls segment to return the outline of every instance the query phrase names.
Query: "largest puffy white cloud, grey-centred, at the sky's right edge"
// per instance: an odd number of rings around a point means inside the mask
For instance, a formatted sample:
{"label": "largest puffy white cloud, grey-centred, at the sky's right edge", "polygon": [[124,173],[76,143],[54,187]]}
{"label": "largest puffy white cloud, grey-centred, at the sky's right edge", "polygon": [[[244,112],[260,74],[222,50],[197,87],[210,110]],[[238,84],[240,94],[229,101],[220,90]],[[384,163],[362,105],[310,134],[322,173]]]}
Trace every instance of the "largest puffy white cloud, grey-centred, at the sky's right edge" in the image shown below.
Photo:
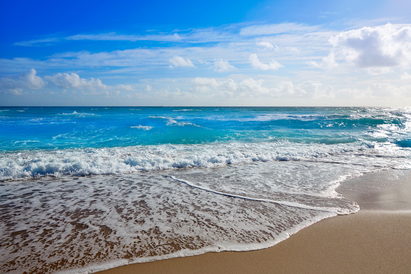
{"label": "largest puffy white cloud, grey-centred, at the sky's right edge", "polygon": [[393,67],[408,67],[411,62],[411,24],[343,31],[332,36],[329,42],[336,58],[367,68],[373,74],[387,72]]}

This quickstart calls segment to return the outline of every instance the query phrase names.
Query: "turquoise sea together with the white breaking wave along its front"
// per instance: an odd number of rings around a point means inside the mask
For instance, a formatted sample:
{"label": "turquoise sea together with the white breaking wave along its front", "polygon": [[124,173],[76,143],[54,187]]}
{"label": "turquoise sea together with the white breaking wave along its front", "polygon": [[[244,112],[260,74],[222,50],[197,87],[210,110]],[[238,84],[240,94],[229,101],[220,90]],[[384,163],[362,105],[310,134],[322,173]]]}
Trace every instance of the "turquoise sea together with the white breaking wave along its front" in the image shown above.
{"label": "turquoise sea together with the white breaking wave along its front", "polygon": [[[2,107],[0,180],[212,167],[344,151],[409,157],[410,124],[411,108]],[[227,146],[245,152],[236,155]],[[102,159],[108,165],[100,166]]]}

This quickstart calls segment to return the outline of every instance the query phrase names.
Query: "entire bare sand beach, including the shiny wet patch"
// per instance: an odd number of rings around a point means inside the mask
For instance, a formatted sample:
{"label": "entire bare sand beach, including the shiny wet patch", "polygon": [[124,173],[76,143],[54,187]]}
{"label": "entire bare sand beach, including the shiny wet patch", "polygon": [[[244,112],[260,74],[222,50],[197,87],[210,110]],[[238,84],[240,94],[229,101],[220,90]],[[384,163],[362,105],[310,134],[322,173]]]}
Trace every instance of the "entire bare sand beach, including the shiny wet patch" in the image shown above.
{"label": "entire bare sand beach, including the shiny wet patch", "polygon": [[98,273],[411,273],[411,172],[365,174],[337,191],[361,210],[315,223],[273,247],[209,252]]}

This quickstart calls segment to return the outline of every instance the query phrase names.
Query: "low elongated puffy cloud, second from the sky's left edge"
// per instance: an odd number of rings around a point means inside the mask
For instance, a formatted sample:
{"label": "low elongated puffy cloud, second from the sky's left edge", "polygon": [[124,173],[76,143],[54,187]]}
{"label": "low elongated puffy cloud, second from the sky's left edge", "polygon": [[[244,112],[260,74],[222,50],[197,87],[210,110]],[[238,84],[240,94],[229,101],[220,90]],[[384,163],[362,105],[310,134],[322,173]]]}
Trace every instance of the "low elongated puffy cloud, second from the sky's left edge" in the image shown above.
{"label": "low elongated puffy cloud, second from the sky's left edge", "polygon": [[90,78],[89,80],[80,78],[78,74],[58,73],[53,76],[45,76],[46,80],[50,81],[57,87],[65,89],[106,89],[107,85],[103,84],[100,79]]}

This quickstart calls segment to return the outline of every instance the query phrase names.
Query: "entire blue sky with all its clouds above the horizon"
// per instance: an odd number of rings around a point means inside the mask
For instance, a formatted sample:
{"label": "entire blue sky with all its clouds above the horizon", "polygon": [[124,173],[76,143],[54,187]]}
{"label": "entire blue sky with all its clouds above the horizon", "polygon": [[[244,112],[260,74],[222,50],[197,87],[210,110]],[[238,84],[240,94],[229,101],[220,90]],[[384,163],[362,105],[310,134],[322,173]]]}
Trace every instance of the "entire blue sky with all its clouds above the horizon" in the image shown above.
{"label": "entire blue sky with all its clouds above the horizon", "polygon": [[2,106],[411,106],[411,1],[1,1]]}

